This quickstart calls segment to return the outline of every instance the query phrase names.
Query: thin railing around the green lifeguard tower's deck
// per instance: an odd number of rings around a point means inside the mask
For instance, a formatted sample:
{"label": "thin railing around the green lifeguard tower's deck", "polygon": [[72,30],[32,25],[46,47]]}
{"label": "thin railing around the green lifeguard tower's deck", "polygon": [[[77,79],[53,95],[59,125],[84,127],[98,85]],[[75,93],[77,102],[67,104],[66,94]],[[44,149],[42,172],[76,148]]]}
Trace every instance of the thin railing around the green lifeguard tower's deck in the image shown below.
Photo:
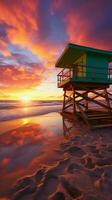
{"label": "thin railing around the green lifeguard tower's deck", "polygon": [[[112,83],[112,67],[108,67],[108,71],[105,72],[105,67],[75,65],[72,68],[64,68],[58,75],[57,81],[58,86],[68,82],[71,78],[76,80],[100,80],[100,82],[111,82]],[[87,70],[87,71],[86,71]],[[104,70],[104,71],[103,71]]]}

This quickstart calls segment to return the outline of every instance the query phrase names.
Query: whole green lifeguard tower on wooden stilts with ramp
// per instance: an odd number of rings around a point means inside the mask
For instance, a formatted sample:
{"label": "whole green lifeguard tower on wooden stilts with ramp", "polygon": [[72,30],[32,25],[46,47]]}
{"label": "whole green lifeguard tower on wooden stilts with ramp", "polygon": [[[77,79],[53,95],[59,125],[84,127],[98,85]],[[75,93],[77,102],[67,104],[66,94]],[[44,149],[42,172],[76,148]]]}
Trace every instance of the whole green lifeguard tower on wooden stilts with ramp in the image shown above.
{"label": "whole green lifeguard tower on wooden stilts with ramp", "polygon": [[69,43],[56,62],[63,68],[58,87],[64,90],[62,113],[80,116],[93,128],[112,126],[112,51]]}

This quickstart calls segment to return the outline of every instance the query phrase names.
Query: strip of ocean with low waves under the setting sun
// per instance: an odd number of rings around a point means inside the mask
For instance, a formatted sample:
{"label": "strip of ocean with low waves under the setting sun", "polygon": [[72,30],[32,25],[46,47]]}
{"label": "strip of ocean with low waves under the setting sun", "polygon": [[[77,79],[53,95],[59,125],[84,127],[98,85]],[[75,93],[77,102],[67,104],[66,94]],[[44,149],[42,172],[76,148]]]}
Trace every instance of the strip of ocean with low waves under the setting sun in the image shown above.
{"label": "strip of ocean with low waves under the setting sun", "polygon": [[15,100],[0,101],[0,122],[19,118],[38,116],[61,110],[62,101],[31,101]]}

